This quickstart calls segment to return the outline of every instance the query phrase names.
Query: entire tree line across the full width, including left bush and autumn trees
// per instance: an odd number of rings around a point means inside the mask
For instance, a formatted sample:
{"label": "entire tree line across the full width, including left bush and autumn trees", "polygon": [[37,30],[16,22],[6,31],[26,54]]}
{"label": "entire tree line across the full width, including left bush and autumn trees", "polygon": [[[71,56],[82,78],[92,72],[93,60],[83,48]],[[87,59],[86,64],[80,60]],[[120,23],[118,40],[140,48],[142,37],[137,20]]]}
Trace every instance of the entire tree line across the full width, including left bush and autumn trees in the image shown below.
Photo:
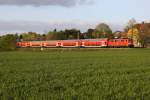
{"label": "entire tree line across the full width, including left bush and autumn trees", "polygon": [[0,50],[14,50],[18,41],[48,41],[68,39],[95,39],[95,38],[131,38],[137,46],[146,47],[150,43],[150,23],[136,23],[134,19],[129,20],[124,31],[112,32],[109,25],[98,24],[95,29],[88,29],[82,33],[77,29],[66,29],[49,31],[46,34],[27,32],[22,34],[7,34],[0,36]]}

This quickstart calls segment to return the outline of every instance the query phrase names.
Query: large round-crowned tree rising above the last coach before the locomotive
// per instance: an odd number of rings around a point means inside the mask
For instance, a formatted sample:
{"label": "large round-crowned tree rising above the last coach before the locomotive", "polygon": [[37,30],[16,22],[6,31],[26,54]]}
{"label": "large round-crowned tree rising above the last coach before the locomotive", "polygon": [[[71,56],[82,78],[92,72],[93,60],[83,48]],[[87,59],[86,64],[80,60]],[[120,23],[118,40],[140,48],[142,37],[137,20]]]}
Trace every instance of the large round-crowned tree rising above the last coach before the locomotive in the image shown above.
{"label": "large round-crowned tree rising above the last coach before the locomotive", "polygon": [[101,23],[96,26],[94,35],[96,38],[106,38],[112,35],[112,30],[107,24]]}

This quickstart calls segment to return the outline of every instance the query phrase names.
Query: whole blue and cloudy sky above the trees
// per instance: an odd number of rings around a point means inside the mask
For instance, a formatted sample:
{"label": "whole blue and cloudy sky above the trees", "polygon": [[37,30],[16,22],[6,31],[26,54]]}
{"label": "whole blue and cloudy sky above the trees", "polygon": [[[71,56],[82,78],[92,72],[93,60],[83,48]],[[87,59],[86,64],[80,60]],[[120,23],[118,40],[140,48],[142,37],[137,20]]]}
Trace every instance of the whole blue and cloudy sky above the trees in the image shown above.
{"label": "whole blue and cloudy sky above the trees", "polygon": [[149,4],[150,0],[0,0],[0,33],[86,31],[99,23],[123,30],[132,18],[150,21]]}

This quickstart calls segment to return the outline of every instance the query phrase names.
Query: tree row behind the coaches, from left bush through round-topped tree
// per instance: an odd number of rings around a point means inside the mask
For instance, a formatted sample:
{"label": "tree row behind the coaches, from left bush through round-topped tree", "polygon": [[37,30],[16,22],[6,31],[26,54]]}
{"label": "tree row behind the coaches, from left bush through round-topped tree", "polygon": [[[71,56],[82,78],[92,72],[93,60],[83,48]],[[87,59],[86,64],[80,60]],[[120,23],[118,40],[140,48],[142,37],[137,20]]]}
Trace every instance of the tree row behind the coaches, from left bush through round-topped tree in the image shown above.
{"label": "tree row behind the coaches, from left bush through round-topped tree", "polygon": [[96,29],[88,29],[87,32],[81,32],[77,29],[66,29],[49,31],[46,34],[37,34],[28,32],[19,35],[20,41],[45,41],[45,40],[68,40],[68,39],[89,39],[89,38],[106,38],[111,37],[112,30],[107,24],[99,24]]}

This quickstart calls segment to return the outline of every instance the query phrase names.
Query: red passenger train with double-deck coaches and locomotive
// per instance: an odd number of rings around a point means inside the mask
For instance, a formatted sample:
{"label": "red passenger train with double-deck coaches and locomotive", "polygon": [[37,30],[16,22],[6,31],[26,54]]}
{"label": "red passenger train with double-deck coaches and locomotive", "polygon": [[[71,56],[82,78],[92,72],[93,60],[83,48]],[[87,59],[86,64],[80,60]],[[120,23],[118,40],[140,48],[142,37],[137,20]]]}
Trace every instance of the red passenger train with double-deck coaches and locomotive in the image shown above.
{"label": "red passenger train with double-deck coaches and locomotive", "polygon": [[81,39],[55,41],[23,41],[17,47],[134,47],[132,39]]}

